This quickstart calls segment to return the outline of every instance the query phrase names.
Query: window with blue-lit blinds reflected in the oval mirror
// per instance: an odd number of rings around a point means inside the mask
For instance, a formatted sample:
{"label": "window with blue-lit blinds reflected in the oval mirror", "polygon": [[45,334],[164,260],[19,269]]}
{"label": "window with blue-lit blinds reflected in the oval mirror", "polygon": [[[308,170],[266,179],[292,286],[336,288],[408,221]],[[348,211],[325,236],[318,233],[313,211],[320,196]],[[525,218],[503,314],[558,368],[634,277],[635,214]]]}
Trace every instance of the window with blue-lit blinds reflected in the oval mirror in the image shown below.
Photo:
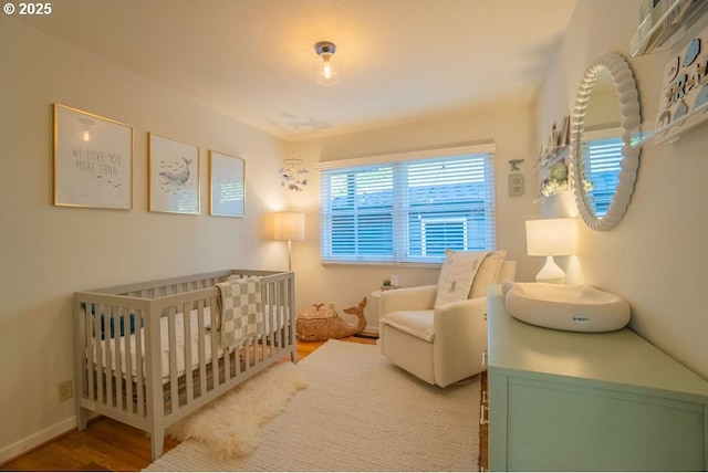
{"label": "window with blue-lit blinds reflected in the oval mirror", "polygon": [[603,217],[620,181],[620,162],[622,161],[622,136],[590,139],[584,143],[585,181],[592,186],[585,192],[587,203],[596,217]]}

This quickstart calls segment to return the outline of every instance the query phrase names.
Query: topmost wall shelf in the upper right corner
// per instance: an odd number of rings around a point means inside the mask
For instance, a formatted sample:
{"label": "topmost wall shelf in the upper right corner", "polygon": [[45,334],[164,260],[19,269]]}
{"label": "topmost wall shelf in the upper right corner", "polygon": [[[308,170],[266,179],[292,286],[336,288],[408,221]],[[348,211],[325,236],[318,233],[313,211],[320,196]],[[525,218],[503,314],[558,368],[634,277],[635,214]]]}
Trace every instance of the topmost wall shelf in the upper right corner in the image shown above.
{"label": "topmost wall shelf in the upper right corner", "polygon": [[708,1],[660,0],[629,40],[633,56],[667,51],[705,25]]}

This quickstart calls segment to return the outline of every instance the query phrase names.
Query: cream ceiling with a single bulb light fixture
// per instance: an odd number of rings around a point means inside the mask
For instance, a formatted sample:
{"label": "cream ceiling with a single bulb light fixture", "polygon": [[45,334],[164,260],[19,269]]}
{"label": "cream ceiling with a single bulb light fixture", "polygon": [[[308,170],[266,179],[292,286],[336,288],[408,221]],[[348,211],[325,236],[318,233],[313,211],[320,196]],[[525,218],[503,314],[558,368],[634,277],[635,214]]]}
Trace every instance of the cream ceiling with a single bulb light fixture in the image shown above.
{"label": "cream ceiling with a single bulb light fixture", "polygon": [[[62,0],[33,27],[285,140],[531,101],[575,0]],[[19,18],[19,17],[15,17]],[[341,80],[315,81],[317,41]]]}

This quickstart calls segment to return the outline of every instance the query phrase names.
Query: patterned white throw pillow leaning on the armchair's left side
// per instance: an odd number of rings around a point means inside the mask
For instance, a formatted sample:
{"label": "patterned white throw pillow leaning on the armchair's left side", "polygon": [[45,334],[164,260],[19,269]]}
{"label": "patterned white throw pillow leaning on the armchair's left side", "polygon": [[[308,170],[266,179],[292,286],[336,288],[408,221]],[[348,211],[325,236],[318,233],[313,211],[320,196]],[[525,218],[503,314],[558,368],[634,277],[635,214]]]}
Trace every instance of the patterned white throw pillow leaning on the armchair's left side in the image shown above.
{"label": "patterned white throw pillow leaning on the armchair's left side", "polygon": [[435,306],[468,298],[475,274],[488,251],[445,250],[445,263],[438,276]]}

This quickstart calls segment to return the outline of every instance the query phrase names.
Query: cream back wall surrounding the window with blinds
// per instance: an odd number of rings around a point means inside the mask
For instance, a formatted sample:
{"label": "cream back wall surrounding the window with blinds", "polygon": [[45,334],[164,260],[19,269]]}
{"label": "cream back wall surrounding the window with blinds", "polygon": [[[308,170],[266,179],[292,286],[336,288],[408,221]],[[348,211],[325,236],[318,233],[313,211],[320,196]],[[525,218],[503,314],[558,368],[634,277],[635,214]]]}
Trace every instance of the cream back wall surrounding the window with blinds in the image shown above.
{"label": "cream back wall surrounding the window with blinds", "polygon": [[[291,198],[293,208],[306,212],[306,241],[293,244],[293,269],[298,281],[305,281],[298,286],[299,307],[333,302],[343,315],[342,308],[356,305],[367,296],[367,326],[378,329],[378,308],[369,296],[373,290],[392,274],[398,274],[404,286],[435,284],[439,272],[439,267],[322,265],[319,262],[319,180],[314,169],[317,162],[465,143],[493,140],[497,145],[497,246],[506,249],[509,259],[519,261],[519,280],[532,280],[542,266],[541,259],[525,255],[524,221],[538,212],[533,204],[538,197],[538,177],[532,172],[538,155],[535,127],[531,104],[499,105],[467,115],[291,144],[295,156],[304,159],[311,170],[309,187]],[[524,175],[523,197],[509,197],[510,159],[524,159],[521,170],[514,171]]]}

